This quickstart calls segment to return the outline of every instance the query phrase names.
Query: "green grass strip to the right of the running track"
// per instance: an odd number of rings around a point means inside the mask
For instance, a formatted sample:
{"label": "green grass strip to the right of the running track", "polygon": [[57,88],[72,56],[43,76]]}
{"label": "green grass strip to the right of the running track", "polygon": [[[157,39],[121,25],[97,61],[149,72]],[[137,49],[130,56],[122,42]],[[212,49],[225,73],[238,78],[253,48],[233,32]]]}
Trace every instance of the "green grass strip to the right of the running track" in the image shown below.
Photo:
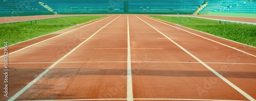
{"label": "green grass strip to the right of the running track", "polygon": [[256,47],[256,25],[229,22],[226,22],[224,25],[223,22],[219,24],[219,21],[192,17],[151,17],[180,24],[185,27],[193,28],[215,36]]}

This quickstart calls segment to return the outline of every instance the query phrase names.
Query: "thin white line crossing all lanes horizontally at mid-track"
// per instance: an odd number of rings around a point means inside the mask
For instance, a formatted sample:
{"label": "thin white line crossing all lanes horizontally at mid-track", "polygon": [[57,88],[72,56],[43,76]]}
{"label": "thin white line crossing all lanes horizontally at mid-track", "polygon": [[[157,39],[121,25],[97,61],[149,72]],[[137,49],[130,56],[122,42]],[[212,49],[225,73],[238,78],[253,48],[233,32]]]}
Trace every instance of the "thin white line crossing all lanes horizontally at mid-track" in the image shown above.
{"label": "thin white line crossing all lanes horizontally at mid-track", "polygon": [[[126,63],[127,61],[76,61],[76,62],[59,62],[59,63]],[[200,62],[178,62],[178,61],[131,61],[132,63],[200,63]],[[40,63],[54,63],[54,62],[16,62],[8,64],[40,64]],[[225,63],[225,62],[204,62],[208,64],[252,64],[256,63]],[[0,63],[4,64],[4,63]]]}

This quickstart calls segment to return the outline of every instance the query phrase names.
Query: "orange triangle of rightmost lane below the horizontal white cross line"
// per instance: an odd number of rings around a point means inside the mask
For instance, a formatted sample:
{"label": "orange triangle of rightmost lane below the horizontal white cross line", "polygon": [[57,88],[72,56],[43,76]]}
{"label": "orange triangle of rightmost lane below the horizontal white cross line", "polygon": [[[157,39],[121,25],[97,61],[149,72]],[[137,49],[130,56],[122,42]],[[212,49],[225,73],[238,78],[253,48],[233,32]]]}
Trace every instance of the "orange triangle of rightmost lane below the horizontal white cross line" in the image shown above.
{"label": "orange triangle of rightmost lane below the horizontal white cross line", "polygon": [[256,99],[255,64],[208,64],[223,77]]}

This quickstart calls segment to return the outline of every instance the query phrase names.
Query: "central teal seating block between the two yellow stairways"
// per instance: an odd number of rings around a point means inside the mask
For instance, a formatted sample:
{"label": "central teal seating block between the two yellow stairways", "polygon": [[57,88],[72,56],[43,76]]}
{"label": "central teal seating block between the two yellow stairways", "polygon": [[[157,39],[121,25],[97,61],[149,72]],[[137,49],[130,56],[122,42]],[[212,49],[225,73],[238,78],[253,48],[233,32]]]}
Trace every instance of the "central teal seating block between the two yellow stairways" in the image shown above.
{"label": "central teal seating block between the two yellow stairways", "polygon": [[87,13],[167,13],[192,14],[203,1],[184,0],[44,0],[58,14],[63,12]]}

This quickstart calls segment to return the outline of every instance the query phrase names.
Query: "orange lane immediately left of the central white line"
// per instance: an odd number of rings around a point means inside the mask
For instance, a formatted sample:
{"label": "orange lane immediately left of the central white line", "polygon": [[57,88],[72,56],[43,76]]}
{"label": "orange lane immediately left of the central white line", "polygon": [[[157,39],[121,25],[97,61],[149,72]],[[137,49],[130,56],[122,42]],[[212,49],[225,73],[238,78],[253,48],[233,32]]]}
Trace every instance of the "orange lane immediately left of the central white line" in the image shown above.
{"label": "orange lane immediately left of the central white line", "polygon": [[[127,17],[120,16],[82,44],[65,61],[106,61],[127,59],[127,49],[95,48],[127,47]],[[111,33],[110,33],[111,32]],[[58,63],[38,80],[19,100],[126,98],[126,62],[122,63]],[[64,79],[65,78],[65,79]],[[53,82],[57,81],[57,82]],[[58,87],[61,86],[61,87]],[[40,92],[38,92],[41,88]],[[51,88],[51,89],[47,89]],[[41,91],[43,90],[43,91]],[[32,96],[29,96],[31,95]],[[29,96],[29,97],[27,97]]]}

